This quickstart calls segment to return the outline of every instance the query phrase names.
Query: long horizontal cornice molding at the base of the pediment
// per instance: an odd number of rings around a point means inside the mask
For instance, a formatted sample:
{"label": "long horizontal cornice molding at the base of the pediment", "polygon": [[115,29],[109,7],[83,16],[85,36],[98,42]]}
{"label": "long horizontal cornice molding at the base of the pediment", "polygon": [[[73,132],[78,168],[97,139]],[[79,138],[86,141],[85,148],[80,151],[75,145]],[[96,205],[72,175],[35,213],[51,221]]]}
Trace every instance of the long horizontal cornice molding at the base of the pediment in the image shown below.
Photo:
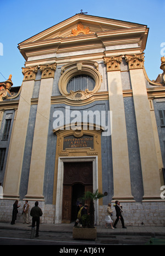
{"label": "long horizontal cornice molding at the base of the pediment", "polygon": [[[83,31],[83,30],[82,30]],[[78,30],[80,32],[80,30]],[[91,32],[91,31],[90,31]],[[28,57],[46,55],[48,53],[61,53],[70,51],[89,50],[91,45],[96,48],[107,47],[116,44],[138,43],[140,51],[144,51],[148,29],[146,26],[136,28],[112,29],[96,31],[93,34],[79,36],[56,37],[38,41],[24,41],[19,44],[19,50],[27,61]]]}

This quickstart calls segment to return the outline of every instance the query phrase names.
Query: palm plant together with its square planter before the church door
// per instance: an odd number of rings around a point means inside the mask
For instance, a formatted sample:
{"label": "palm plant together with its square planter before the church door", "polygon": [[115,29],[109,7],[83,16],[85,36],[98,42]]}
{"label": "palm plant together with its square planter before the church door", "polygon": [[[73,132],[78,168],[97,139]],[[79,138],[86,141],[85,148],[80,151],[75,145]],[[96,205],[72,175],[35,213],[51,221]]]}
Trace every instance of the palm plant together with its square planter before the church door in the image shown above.
{"label": "palm plant together with its square planter before the church door", "polygon": [[104,197],[104,195],[98,192],[92,193],[90,191],[85,192],[83,200],[90,200],[90,210],[89,210],[89,225],[87,227],[74,227],[73,228],[73,238],[75,239],[92,239],[95,240],[97,236],[97,230],[95,227],[95,207],[94,200],[98,200]]}

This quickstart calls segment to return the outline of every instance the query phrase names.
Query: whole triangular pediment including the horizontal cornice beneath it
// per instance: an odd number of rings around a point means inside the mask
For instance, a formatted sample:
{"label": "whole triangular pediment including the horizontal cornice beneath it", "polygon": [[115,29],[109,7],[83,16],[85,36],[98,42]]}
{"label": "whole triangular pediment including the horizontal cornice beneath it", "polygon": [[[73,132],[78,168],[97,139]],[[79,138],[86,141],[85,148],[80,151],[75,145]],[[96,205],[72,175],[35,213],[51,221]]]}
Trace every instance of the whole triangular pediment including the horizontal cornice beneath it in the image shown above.
{"label": "whole triangular pediment including the horizontal cornice beneath it", "polygon": [[78,51],[76,48],[83,45],[106,47],[133,43],[133,40],[144,51],[148,30],[146,25],[76,14],[19,43],[18,48],[26,60],[34,55],[65,52],[65,49],[67,52],[73,45],[74,51]]}

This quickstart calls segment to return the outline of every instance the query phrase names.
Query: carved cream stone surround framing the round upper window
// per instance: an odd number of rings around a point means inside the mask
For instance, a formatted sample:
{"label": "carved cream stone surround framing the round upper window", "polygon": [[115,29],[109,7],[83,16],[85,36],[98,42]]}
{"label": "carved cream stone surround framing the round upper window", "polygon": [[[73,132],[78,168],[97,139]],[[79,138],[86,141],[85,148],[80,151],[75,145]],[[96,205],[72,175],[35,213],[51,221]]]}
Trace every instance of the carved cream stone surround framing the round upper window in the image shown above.
{"label": "carved cream stone surround framing the round upper window", "polygon": [[[95,88],[92,91],[86,89],[78,91],[67,91],[67,84],[75,75],[86,74],[95,80]],[[61,68],[61,78],[59,79],[58,88],[61,94],[67,99],[81,101],[91,97],[98,91],[102,82],[100,72],[98,72],[98,63],[95,61],[71,62]]]}

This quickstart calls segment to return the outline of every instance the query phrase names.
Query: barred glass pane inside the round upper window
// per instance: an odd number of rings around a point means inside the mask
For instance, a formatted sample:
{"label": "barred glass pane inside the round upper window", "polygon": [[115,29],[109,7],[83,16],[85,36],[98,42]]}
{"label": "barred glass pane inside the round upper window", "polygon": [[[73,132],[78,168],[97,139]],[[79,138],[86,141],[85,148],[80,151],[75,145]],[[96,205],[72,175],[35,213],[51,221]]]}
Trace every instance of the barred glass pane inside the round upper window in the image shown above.
{"label": "barred glass pane inside the round upper window", "polygon": [[95,87],[95,80],[89,75],[81,74],[81,75],[76,75],[75,77],[69,80],[67,84],[67,92],[70,93],[70,91],[78,91],[78,90],[85,91],[86,89],[88,89],[89,91],[92,91],[94,90],[94,87]]}

